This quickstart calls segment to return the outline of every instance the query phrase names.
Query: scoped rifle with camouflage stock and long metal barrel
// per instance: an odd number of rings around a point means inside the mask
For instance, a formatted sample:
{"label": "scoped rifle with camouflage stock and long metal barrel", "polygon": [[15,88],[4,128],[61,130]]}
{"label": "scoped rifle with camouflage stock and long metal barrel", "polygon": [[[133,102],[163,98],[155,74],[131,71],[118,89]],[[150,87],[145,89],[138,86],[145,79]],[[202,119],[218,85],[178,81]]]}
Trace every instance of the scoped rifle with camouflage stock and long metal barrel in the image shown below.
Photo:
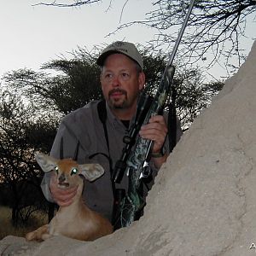
{"label": "scoped rifle with camouflage stock and long metal barrel", "polygon": [[[126,194],[120,193],[119,199],[114,202],[113,206],[113,227],[114,230],[120,227],[126,227],[136,220],[140,212],[142,212],[145,202],[143,201],[143,195],[141,186],[142,178],[148,177],[150,174],[150,168],[148,161],[150,160],[150,151],[153,146],[153,142],[142,137],[137,137],[137,133],[142,125],[148,124],[148,120],[157,114],[162,113],[166,105],[168,95],[171,93],[172,79],[175,73],[175,67],[172,62],[177,52],[177,47],[180,44],[181,38],[185,27],[187,26],[189,15],[194,6],[195,0],[191,0],[189,4],[188,13],[183,21],[183,26],[178,34],[177,41],[172,50],[172,55],[166,65],[166,69],[160,80],[160,86],[152,98],[143,93],[137,103],[137,113],[129,135],[124,137],[123,141],[125,147],[122,151],[120,160],[117,161],[116,166],[113,169],[113,181],[114,183],[120,183],[121,179],[126,172],[128,175],[128,191]],[[131,150],[131,148],[134,149]]]}

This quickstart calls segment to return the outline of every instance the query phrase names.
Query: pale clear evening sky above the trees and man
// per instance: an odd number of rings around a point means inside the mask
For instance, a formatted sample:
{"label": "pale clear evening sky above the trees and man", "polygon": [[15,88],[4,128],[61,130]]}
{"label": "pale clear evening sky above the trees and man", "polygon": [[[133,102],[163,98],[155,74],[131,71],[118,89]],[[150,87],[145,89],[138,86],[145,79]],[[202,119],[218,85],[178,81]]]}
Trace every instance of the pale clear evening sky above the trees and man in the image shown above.
{"label": "pale clear evening sky above the trees and man", "polygon": [[[109,44],[115,40],[144,44],[154,38],[154,30],[143,26],[132,26],[107,37],[122,23],[143,20],[145,13],[153,8],[148,0],[130,0],[127,3],[126,0],[113,0],[112,6],[109,6],[110,0],[103,0],[102,3],[79,8],[33,6],[39,2],[8,0],[1,4],[0,77],[3,73],[24,67],[38,71],[42,64],[61,55],[68,58],[68,52],[78,47],[92,49],[94,45]],[[72,3],[71,0],[61,2]],[[256,36],[254,25],[250,23],[248,29]],[[248,39],[247,52],[252,44],[253,41]],[[223,72],[215,68],[212,75],[218,77]]]}

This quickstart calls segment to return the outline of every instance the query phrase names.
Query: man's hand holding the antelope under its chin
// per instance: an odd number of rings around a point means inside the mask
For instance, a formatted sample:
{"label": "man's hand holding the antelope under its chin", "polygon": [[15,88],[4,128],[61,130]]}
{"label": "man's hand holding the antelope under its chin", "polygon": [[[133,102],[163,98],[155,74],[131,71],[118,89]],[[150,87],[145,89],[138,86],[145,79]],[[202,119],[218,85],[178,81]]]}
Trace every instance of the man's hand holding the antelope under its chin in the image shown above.
{"label": "man's hand holding the antelope under its chin", "polygon": [[73,197],[77,194],[77,187],[72,189],[58,188],[57,175],[54,172],[49,180],[49,189],[54,201],[60,207],[67,207],[73,203]]}

